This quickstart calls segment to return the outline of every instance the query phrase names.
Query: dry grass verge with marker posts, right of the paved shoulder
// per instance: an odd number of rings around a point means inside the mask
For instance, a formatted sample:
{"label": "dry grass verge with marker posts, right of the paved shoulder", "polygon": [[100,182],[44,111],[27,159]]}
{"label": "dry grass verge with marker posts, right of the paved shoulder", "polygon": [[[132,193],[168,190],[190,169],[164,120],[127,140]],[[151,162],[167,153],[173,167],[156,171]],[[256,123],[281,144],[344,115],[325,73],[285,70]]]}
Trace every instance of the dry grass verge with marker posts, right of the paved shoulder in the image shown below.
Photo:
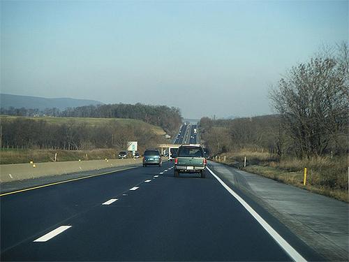
{"label": "dry grass verge with marker posts, right of the paved shoulder", "polygon": [[[262,152],[240,151],[226,155],[225,163],[279,182],[292,184],[318,194],[349,202],[347,157],[317,157],[313,159],[282,159]],[[244,168],[244,157],[246,167]],[[303,184],[307,168],[306,186]]]}

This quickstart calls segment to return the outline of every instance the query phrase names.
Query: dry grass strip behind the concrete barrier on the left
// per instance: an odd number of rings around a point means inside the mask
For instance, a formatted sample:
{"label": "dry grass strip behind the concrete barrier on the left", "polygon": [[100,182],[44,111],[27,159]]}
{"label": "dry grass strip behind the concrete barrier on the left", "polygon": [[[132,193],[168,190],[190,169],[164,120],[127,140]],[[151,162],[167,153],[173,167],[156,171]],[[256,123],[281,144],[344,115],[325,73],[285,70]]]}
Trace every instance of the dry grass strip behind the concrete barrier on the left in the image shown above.
{"label": "dry grass strip behind the concrete barrier on the left", "polygon": [[57,161],[78,161],[94,159],[116,159],[118,150],[1,150],[0,163],[29,163],[34,161],[53,162],[54,154],[57,153]]}

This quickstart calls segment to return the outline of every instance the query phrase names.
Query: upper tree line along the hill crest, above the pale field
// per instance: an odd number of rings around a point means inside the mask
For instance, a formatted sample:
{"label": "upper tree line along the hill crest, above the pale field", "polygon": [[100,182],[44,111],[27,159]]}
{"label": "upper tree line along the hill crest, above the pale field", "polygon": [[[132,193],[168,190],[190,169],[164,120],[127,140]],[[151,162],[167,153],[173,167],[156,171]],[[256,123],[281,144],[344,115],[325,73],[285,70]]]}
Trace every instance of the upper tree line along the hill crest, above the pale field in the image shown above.
{"label": "upper tree line along the hill crest, above the pale field", "polygon": [[86,105],[76,108],[59,110],[46,108],[45,110],[27,108],[1,108],[1,115],[16,116],[52,116],[52,117],[103,117],[103,118],[131,118],[149,124],[161,126],[166,132],[174,133],[179,128],[182,117],[179,108],[166,105],[144,105],[142,103]]}

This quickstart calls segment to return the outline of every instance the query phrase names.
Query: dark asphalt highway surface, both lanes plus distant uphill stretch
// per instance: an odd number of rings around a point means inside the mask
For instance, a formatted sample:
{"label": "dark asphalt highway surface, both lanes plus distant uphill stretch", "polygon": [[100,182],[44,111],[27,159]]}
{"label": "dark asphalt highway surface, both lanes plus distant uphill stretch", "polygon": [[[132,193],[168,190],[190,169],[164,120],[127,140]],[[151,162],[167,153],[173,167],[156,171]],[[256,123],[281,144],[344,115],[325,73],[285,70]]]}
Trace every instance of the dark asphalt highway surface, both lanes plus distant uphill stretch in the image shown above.
{"label": "dark asphalt highway surface, both lanes plus distant uphill stretch", "polygon": [[[190,138],[195,125],[189,126],[181,133]],[[177,143],[184,139],[179,136]],[[1,261],[318,259],[295,235],[267,219],[272,229],[281,228],[286,244],[299,250],[293,252],[213,172],[205,172],[205,179],[173,177],[173,162],[166,161],[162,167],[1,196]],[[270,217],[257,204],[254,208]]]}

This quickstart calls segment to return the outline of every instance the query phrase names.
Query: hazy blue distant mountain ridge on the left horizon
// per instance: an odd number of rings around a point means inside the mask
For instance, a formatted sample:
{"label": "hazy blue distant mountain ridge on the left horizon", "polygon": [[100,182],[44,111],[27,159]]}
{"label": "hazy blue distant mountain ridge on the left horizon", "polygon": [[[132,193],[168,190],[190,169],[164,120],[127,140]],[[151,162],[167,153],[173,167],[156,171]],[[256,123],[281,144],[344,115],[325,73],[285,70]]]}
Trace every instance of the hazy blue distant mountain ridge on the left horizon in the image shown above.
{"label": "hazy blue distant mountain ridge on the left horizon", "polygon": [[66,108],[76,108],[83,105],[102,105],[100,101],[85,100],[85,99],[45,99],[38,96],[17,96],[14,94],[0,94],[1,108],[31,108],[38,110],[45,110],[45,108],[58,108],[64,110]]}

